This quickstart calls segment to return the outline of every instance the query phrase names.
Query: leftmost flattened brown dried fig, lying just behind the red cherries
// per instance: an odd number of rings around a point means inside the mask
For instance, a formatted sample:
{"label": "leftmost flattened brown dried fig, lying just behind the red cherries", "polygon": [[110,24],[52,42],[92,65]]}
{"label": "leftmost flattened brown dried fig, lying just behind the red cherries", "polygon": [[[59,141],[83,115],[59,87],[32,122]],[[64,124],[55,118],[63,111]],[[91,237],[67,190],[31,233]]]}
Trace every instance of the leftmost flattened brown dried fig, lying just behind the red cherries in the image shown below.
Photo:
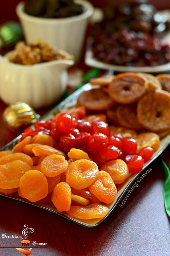
{"label": "leftmost flattened brown dried fig, lying just behind the red cherries", "polygon": [[102,89],[92,89],[82,92],[77,102],[89,110],[105,110],[111,98]]}

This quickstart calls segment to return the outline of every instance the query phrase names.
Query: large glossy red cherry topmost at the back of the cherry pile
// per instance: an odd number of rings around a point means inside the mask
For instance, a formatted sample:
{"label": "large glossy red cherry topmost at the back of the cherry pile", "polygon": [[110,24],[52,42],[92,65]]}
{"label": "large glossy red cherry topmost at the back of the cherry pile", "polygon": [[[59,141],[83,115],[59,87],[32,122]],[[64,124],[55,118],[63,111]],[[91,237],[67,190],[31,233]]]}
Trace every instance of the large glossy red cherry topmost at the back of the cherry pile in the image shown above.
{"label": "large glossy red cherry topmost at the back of the cherry pile", "polygon": [[57,127],[62,132],[69,132],[71,128],[74,128],[74,121],[72,120],[71,116],[62,113],[57,117]]}

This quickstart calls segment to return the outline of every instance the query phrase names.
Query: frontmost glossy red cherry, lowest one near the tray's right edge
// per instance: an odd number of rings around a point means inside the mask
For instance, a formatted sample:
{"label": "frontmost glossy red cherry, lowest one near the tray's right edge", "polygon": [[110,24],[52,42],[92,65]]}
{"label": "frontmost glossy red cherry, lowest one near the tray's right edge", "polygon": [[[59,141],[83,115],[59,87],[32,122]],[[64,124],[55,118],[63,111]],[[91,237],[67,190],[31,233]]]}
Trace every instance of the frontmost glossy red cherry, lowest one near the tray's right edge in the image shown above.
{"label": "frontmost glossy red cherry, lowest one near the tray's right edge", "polygon": [[129,169],[129,172],[137,173],[143,168],[143,158],[142,156],[134,155],[131,157],[129,162],[127,163],[127,167]]}

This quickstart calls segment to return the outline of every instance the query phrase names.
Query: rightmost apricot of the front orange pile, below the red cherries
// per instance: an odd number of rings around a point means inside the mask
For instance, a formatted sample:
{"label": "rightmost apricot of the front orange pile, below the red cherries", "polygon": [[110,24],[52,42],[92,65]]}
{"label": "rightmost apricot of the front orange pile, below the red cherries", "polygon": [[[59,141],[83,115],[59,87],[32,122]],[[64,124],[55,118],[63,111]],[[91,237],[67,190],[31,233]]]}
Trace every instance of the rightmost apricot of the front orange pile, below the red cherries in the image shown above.
{"label": "rightmost apricot of the front orange pile, below the red cherries", "polygon": [[102,165],[100,170],[108,172],[115,184],[123,183],[129,174],[127,164],[121,159],[106,162]]}

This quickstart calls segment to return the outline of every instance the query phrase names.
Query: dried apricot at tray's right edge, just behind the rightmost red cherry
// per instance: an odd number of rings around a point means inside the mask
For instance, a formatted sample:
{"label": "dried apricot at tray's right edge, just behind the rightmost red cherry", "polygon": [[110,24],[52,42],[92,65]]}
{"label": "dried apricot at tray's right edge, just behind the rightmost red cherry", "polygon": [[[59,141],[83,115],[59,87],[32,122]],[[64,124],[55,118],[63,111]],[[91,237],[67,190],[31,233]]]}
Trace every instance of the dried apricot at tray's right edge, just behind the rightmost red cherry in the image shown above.
{"label": "dried apricot at tray's right edge, just behind the rightmost red cherry", "polygon": [[160,145],[159,136],[154,132],[141,133],[137,135],[135,140],[137,141],[137,151],[141,150],[141,148],[150,147],[155,152]]}

